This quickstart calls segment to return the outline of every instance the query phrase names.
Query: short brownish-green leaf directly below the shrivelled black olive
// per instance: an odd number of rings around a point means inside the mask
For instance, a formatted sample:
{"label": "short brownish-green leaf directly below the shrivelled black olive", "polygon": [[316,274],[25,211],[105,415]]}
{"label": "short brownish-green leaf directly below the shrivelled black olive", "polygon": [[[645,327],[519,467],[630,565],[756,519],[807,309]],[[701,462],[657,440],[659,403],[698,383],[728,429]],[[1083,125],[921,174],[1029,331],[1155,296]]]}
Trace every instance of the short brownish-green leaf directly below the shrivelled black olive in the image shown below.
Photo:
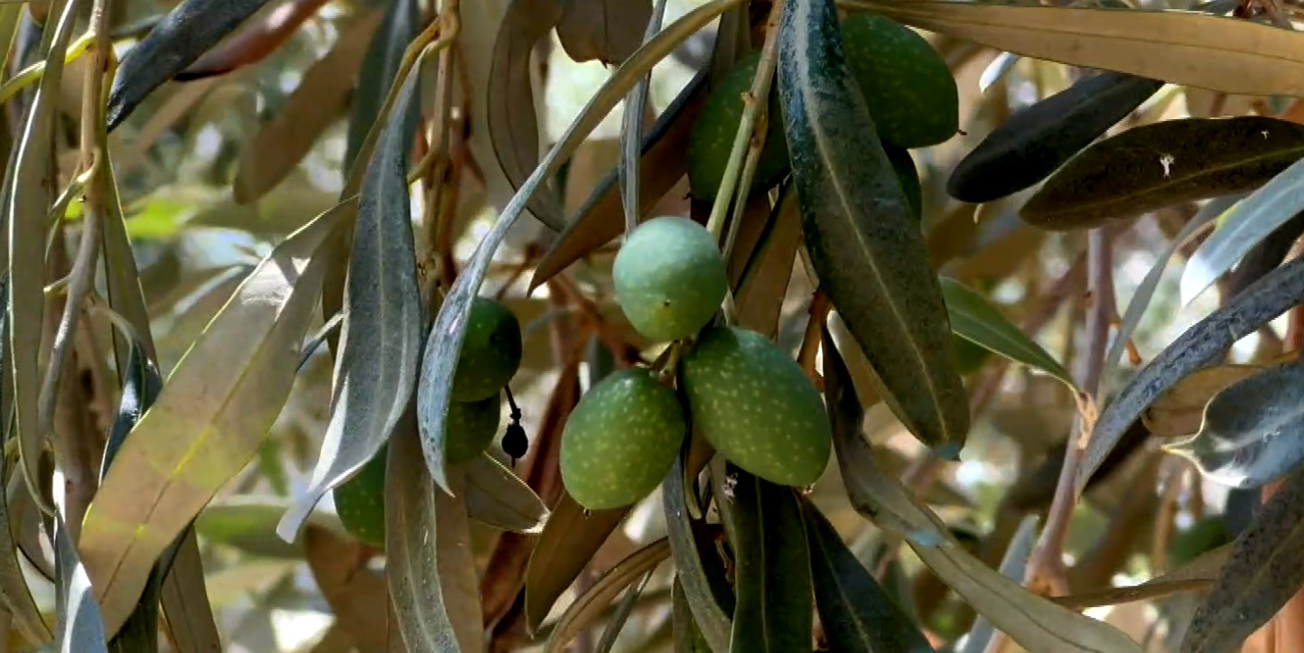
{"label": "short brownish-green leaf directly below the shrivelled black olive", "polygon": [[516,533],[539,533],[548,507],[516,474],[489,454],[467,463],[467,515],[482,524]]}

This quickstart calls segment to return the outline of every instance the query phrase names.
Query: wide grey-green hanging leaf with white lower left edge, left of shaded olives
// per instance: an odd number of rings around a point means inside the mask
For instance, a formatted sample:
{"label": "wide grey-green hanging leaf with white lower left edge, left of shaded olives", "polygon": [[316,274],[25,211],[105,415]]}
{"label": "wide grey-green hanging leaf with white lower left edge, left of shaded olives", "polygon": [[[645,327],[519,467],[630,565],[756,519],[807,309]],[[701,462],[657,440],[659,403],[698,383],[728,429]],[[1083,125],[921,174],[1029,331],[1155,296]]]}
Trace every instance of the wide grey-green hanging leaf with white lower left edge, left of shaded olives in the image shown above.
{"label": "wide grey-green hanging leaf with white lower left edge, left of shaded olives", "polygon": [[394,116],[363,180],[330,424],[308,491],[276,527],[286,541],[295,538],[327,491],[385,446],[416,386],[425,323],[407,185],[408,149],[417,116],[416,81],[409,76],[403,83]]}

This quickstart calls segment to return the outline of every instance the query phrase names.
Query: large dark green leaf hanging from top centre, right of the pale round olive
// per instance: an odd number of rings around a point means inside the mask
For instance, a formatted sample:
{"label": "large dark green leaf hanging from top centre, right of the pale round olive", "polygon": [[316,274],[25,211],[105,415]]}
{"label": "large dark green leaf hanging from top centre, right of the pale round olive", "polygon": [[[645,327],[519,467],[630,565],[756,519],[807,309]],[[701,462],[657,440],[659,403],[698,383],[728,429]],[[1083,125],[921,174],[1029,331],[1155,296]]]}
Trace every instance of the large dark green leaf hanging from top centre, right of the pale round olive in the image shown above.
{"label": "large dark green leaf hanging from top centre, right of the pale round olive", "polygon": [[865,351],[883,399],[922,442],[958,456],[969,404],[919,224],[846,64],[832,0],[778,23],[778,96],[819,284]]}

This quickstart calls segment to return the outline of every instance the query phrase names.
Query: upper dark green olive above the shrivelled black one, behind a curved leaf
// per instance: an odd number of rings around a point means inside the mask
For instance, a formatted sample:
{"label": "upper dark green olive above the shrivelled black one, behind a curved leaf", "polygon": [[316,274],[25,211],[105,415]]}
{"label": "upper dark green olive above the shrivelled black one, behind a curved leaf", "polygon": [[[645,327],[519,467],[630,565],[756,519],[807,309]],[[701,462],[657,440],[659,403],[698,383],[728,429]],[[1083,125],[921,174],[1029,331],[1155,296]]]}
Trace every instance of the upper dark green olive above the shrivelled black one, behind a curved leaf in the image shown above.
{"label": "upper dark green olive above the shrivelled black one, behind a curved leaf", "polygon": [[516,375],[520,356],[516,315],[494,300],[476,297],[452,375],[452,400],[480,401],[497,395]]}

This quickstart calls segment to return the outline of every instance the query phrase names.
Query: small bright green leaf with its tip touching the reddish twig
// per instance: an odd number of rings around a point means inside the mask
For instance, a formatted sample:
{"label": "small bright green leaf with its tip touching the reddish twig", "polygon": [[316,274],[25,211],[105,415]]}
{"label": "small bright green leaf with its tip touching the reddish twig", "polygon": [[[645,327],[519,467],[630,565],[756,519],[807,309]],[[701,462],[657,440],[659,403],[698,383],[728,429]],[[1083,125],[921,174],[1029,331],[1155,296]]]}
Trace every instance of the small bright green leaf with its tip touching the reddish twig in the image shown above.
{"label": "small bright green leaf with its tip touching the reddish twig", "polygon": [[956,335],[1015,362],[1039,369],[1068,387],[1076,387],[1068,370],[1005,319],[986,297],[955,279],[943,276],[939,282],[951,315],[951,330]]}

